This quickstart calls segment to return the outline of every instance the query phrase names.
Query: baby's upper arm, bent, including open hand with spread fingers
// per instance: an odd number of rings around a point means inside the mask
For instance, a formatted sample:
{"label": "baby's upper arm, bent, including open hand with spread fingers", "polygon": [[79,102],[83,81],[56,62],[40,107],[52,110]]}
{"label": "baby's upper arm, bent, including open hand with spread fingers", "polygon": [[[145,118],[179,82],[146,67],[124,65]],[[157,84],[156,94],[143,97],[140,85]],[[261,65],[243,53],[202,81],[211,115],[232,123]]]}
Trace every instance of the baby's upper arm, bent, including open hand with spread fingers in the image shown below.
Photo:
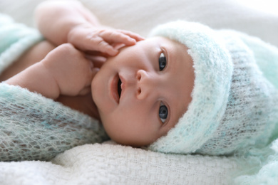
{"label": "baby's upper arm, bent, including open hand with spread fingers", "polygon": [[57,46],[72,43],[83,51],[115,56],[115,46],[132,46],[143,39],[130,31],[101,26],[96,16],[78,1],[45,1],[36,8],[35,17],[39,31]]}

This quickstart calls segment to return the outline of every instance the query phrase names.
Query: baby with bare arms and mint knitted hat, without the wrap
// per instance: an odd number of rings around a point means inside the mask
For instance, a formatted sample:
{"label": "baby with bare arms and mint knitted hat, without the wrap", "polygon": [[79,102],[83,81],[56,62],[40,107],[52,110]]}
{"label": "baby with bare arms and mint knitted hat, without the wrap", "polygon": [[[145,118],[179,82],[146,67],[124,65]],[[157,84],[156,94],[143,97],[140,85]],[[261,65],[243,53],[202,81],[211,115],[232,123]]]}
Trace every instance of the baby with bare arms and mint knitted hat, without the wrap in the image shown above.
{"label": "baby with bare arms and mint knitted hat, without the wrap", "polygon": [[[144,40],[71,5],[38,7],[47,41],[1,80],[101,120],[115,142],[156,152],[232,154],[276,137],[277,48],[185,21],[158,26]],[[51,52],[26,68],[36,51]]]}

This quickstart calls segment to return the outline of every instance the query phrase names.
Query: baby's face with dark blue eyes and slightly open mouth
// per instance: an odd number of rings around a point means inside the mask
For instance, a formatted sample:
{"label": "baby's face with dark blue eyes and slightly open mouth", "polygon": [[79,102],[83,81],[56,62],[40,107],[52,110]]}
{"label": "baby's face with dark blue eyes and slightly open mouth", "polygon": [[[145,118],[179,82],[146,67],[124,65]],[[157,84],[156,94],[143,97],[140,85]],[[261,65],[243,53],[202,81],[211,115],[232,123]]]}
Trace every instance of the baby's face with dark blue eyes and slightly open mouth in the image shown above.
{"label": "baby's face with dark blue eyes and slightly open mouth", "polygon": [[187,48],[155,37],[108,58],[93,78],[92,95],[110,138],[140,147],[175,126],[191,101],[193,85]]}

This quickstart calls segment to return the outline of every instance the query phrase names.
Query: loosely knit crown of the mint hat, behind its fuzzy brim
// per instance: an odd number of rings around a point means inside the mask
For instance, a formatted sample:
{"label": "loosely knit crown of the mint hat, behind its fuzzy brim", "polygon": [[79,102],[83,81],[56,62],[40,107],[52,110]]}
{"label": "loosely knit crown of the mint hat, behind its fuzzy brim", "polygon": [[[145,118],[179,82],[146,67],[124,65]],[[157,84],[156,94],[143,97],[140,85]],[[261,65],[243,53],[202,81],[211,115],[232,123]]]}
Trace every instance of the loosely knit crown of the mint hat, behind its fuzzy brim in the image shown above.
{"label": "loosely knit crown of the mint hat, behind its fuzzy brim", "polygon": [[[252,51],[239,38],[228,31],[223,38],[234,64],[229,101],[220,125],[197,153],[242,153],[264,147],[278,124],[278,90],[262,75]],[[268,62],[278,63],[278,58]]]}

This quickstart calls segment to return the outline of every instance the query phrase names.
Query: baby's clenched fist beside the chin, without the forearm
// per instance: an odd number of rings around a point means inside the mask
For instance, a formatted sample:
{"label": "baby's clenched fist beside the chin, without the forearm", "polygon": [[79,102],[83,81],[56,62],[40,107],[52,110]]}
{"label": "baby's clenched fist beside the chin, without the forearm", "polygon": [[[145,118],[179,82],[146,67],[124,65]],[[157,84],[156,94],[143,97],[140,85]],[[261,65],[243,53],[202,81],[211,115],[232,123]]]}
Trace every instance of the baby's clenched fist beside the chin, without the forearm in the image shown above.
{"label": "baby's clenched fist beside the chin, without the forearm", "polygon": [[70,43],[58,46],[41,62],[55,79],[60,95],[76,96],[90,92],[97,69]]}

